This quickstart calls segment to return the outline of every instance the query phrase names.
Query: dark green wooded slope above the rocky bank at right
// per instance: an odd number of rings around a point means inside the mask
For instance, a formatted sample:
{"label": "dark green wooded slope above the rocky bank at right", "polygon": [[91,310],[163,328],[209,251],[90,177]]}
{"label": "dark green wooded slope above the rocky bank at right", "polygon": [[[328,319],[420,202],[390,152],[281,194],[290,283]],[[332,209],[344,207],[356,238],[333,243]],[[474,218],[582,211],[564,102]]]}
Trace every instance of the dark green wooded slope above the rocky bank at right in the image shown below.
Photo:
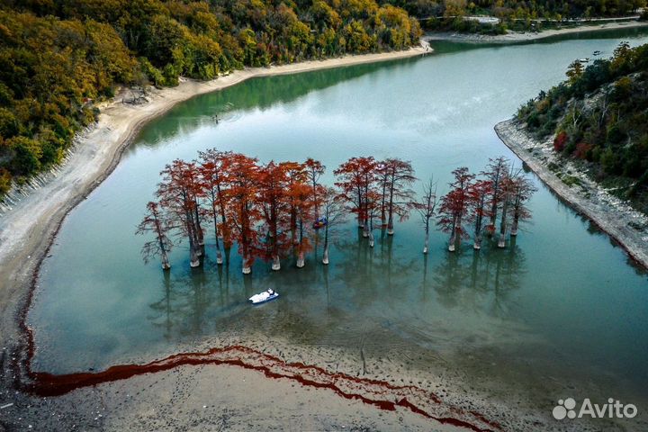
{"label": "dark green wooded slope above the rocky bank at right", "polygon": [[648,45],[624,42],[587,67],[574,61],[567,80],[523,105],[518,120],[648,213]]}

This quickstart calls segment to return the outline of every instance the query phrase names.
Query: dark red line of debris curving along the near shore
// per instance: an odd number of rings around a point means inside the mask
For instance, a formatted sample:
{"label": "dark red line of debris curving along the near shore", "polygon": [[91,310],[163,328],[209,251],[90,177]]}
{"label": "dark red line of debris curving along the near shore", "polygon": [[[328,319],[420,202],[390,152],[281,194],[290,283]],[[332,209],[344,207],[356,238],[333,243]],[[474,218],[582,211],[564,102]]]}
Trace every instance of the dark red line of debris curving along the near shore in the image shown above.
{"label": "dark red line of debris curving along the near shore", "polygon": [[180,365],[236,365],[256,370],[273,379],[290,379],[304,386],[329,389],[349,400],[363,401],[381,410],[405,408],[427,419],[475,432],[503,430],[481,414],[446,405],[434,393],[414,385],[398,386],[384,381],[331,373],[320,366],[286,363],[249,347],[211,348],[203,353],[168,356],[146,365],[114,365],[98,373],[49,374],[28,371],[31,383],[23,389],[38,396],[59,396],[76,389],[125,380],[139,374],[166,371]]}

